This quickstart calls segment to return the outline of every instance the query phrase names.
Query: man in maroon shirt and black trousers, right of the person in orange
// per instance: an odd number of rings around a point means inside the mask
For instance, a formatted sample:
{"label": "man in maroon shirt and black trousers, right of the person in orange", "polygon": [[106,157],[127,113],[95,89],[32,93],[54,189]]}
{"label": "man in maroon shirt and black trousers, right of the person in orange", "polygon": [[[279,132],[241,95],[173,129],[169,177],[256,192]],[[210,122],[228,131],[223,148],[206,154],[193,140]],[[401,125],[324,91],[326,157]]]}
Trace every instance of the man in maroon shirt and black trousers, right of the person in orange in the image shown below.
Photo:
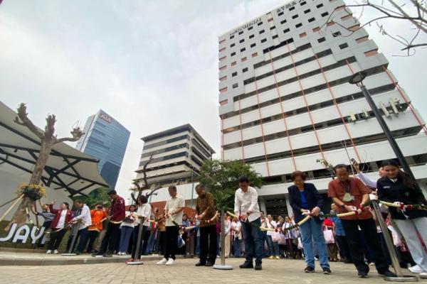
{"label": "man in maroon shirt and black trousers, right of the person in orange", "polygon": [[123,197],[117,195],[115,190],[108,192],[111,199],[110,212],[108,212],[108,219],[110,223],[107,225],[104,239],[102,239],[100,251],[93,253],[92,256],[112,257],[112,252],[117,244],[117,236],[119,234],[120,222],[125,219],[125,200]]}

